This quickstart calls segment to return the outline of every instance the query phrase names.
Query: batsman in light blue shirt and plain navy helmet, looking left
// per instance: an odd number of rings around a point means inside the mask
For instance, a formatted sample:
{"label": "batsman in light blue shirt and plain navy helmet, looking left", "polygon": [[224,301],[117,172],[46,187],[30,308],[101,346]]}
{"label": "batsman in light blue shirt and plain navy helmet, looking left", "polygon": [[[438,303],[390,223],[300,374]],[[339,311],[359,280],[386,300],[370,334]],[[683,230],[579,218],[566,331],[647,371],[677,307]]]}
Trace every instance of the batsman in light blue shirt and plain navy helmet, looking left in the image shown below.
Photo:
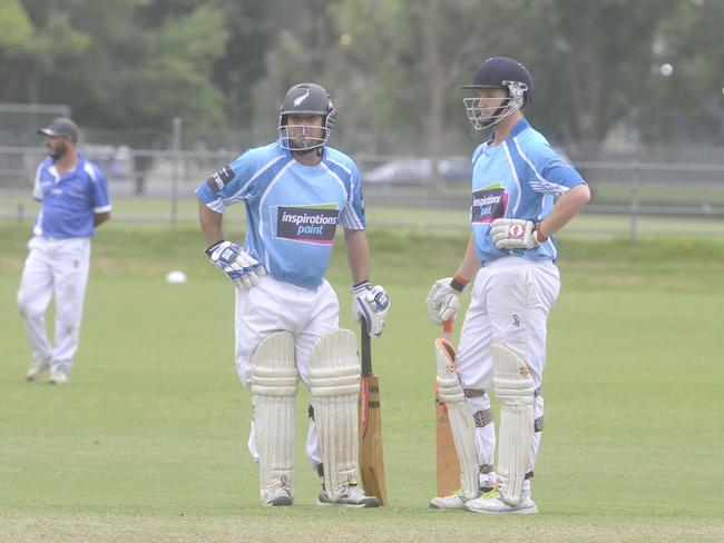
{"label": "batsman in light blue shirt and plain navy helmet, looking left", "polygon": [[[534,82],[520,62],[489,58],[463,88],[474,91],[463,100],[470,122],[492,134],[472,155],[468,248],[454,276],[432,286],[427,305],[434,323],[454,319],[460,294],[472,283],[454,359],[469,423],[452,431],[461,471],[478,476],[461,477],[461,492],[436,497],[430,506],[537,513],[530,480],[544,422],[546,329],[560,288],[551,235],[583,209],[590,192],[525,119]],[[490,392],[500,405],[497,468]],[[478,465],[464,465],[470,458]]]}

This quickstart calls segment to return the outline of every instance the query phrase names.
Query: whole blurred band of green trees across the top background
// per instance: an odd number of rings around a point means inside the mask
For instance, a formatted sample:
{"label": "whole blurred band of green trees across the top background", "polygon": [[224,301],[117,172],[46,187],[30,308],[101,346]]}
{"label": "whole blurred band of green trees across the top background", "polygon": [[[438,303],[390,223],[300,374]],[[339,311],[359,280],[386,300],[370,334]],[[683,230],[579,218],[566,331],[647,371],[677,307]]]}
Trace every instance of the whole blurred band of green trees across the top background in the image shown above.
{"label": "whole blurred band of green trees across the top background", "polygon": [[0,100],[106,129],[180,117],[186,145],[275,137],[284,91],[311,80],[351,151],[467,154],[460,86],[498,55],[530,69],[527,116],[576,158],[622,124],[718,141],[724,125],[720,0],[4,0],[0,24]]}

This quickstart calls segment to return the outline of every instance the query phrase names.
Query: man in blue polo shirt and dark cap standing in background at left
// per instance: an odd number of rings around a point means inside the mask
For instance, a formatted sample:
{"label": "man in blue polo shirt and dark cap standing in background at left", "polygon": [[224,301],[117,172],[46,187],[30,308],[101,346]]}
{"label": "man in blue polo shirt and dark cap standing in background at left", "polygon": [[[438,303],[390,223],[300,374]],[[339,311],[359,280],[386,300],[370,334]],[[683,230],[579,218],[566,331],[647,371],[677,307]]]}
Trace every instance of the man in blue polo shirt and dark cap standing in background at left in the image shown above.
{"label": "man in blue polo shirt and dark cap standing in background at left", "polygon": [[[108,182],[98,167],[76,150],[78,127],[59,117],[38,129],[50,157],[39,167],[32,197],[42,204],[28,243],[18,290],[32,362],[26,374],[65,385],[78,349],[82,304],[90,267],[90,237],[110,218]],[[55,340],[48,340],[45,314],[56,296]]]}

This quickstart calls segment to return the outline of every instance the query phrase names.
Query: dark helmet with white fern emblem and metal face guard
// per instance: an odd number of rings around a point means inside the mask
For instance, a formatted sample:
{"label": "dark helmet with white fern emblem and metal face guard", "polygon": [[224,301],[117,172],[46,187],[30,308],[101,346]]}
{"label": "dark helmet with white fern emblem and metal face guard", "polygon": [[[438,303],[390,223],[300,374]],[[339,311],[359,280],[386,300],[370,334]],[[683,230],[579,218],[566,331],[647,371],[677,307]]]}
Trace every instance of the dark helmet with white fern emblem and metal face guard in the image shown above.
{"label": "dark helmet with white fern emblem and metal face guard", "polygon": [[[319,115],[322,125],[290,126],[292,115]],[[315,83],[299,83],[286,92],[277,125],[282,148],[297,152],[319,149],[326,145],[333,126],[334,106],[324,88]]]}

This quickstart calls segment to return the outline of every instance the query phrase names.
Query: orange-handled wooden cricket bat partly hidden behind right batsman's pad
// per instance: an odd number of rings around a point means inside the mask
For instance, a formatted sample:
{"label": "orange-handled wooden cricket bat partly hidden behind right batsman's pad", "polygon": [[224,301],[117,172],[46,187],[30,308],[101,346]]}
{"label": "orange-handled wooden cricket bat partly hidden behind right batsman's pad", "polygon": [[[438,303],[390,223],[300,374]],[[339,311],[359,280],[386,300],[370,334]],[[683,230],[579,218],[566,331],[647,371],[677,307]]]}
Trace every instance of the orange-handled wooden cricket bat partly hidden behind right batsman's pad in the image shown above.
{"label": "orange-handled wooden cricket bat partly hidden behind right batsman's pad", "polygon": [[[454,357],[457,352],[452,345],[452,319],[442,323],[442,337],[448,342],[446,348],[449,348]],[[434,387],[434,409],[438,495],[449,496],[460,487],[460,463],[458,462],[458,453],[456,452],[452,430],[450,428],[448,406],[440,401],[437,384]]]}

